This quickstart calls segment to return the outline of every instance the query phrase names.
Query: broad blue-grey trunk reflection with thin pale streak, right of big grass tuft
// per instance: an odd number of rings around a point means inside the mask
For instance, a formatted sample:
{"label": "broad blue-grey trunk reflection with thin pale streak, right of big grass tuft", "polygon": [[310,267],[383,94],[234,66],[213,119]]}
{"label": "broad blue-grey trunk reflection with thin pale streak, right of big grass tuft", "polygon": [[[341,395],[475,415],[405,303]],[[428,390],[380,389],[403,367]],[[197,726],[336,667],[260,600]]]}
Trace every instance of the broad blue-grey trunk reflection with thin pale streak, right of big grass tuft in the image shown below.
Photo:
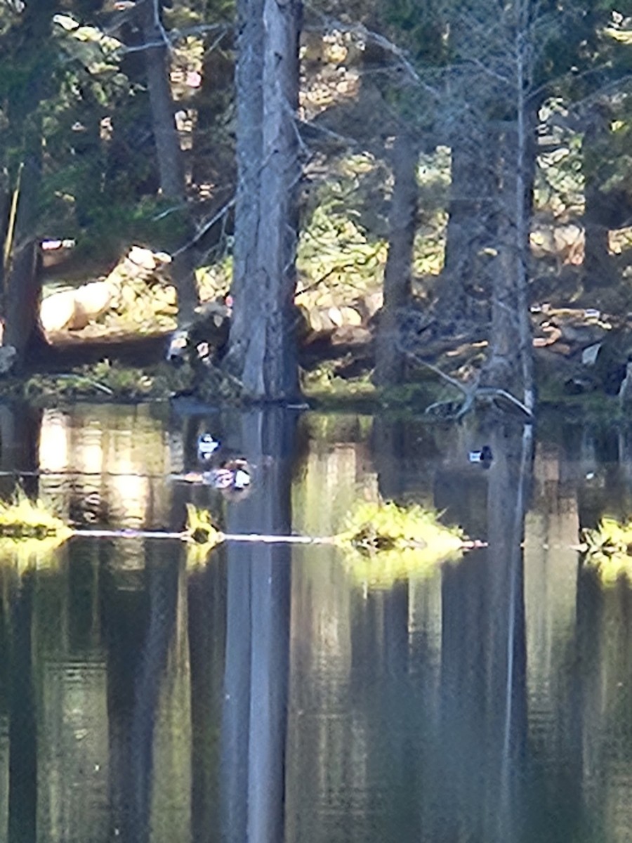
{"label": "broad blue-grey trunk reflection with thin pale streak, right of big grass tuft", "polygon": [[442,573],[437,775],[442,836],[505,843],[519,836],[515,784],[528,728],[521,542],[531,439],[517,427],[495,429],[490,446],[490,547]]}

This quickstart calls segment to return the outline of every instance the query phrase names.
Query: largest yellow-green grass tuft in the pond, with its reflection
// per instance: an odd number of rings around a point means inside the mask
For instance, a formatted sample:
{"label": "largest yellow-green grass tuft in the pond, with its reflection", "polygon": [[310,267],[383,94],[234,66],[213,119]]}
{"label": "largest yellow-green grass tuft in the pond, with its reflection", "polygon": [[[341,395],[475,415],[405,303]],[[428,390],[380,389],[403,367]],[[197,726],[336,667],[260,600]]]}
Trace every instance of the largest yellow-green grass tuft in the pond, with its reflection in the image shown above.
{"label": "largest yellow-green grass tuft in the pond, with its reflection", "polygon": [[335,537],[352,575],[386,588],[413,574],[430,574],[437,563],[461,556],[467,541],[458,527],[446,527],[434,510],[418,504],[359,502]]}

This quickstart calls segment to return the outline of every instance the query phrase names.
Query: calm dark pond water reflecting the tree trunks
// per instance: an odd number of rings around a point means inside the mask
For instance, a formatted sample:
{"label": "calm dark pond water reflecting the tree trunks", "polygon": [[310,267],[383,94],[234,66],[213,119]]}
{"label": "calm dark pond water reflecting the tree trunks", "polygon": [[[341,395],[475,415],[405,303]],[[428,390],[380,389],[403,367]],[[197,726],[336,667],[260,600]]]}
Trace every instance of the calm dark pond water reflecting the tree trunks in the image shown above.
{"label": "calm dark pond water reflecting the tree trunks", "polygon": [[[209,430],[246,497],[169,479]],[[327,546],[0,549],[0,840],[632,840],[632,590],[572,549],[632,513],[632,432],[167,407],[0,408],[13,471],[83,526],[327,535],[356,497],[490,542],[410,571]],[[489,470],[468,463],[490,443]]]}

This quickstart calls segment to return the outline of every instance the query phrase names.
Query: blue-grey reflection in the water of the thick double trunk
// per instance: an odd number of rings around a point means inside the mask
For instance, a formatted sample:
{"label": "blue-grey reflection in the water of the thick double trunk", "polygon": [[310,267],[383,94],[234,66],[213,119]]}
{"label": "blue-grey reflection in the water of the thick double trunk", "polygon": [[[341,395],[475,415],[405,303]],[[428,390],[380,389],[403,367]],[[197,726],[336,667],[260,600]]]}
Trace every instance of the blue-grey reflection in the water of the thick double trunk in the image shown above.
{"label": "blue-grey reflection in the water of the thick double trunk", "polygon": [[[229,513],[230,532],[291,531],[294,424],[278,410],[244,418],[244,449],[267,465],[257,493]],[[222,828],[229,843],[284,839],[291,561],[288,545],[228,547]]]}

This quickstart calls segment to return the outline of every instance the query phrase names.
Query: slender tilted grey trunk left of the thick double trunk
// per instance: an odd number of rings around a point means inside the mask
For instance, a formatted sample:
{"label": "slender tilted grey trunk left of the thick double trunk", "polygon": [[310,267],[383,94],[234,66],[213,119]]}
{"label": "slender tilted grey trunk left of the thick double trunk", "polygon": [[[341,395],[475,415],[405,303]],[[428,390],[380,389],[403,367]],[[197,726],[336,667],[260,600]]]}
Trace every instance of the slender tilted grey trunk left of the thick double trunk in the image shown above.
{"label": "slender tilted grey trunk left of the thick double trunk", "polygon": [[[184,153],[180,148],[175,125],[174,100],[169,83],[169,45],[160,19],[161,0],[142,0],[138,5],[145,43],[147,88],[152,107],[160,188],[163,196],[181,204],[185,218],[185,238],[190,239],[193,224],[186,207]],[[195,261],[190,248],[176,252],[171,275],[178,291],[178,320],[181,324],[189,322],[199,303]]]}

